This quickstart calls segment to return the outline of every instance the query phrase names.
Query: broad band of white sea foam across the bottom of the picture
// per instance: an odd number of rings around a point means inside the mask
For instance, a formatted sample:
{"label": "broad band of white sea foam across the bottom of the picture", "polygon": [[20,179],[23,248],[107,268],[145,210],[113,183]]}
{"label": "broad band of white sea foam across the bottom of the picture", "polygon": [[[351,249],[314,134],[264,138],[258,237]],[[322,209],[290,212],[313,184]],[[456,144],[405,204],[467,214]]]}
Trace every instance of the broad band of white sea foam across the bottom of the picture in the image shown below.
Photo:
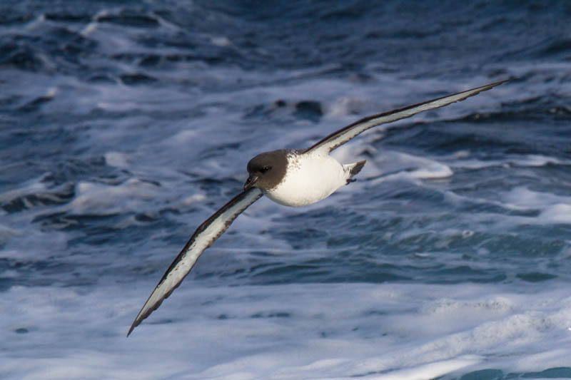
{"label": "broad band of white sea foam across the bottom of the picture", "polygon": [[126,339],[151,288],[12,287],[0,299],[4,378],[430,379],[569,364],[571,297],[555,282],[187,281]]}

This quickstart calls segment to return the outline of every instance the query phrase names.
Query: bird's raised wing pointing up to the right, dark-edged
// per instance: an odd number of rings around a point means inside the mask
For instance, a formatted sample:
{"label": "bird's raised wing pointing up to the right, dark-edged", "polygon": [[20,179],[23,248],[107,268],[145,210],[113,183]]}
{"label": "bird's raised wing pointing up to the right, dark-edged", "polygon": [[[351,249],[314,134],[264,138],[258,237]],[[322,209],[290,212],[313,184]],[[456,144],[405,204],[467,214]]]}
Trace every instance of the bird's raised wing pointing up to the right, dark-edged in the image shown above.
{"label": "bird's raised wing pointing up to the right, dark-edged", "polygon": [[482,91],[487,91],[490,88],[494,88],[495,86],[499,86],[505,82],[507,82],[507,80],[490,83],[486,86],[473,88],[472,90],[463,91],[461,93],[455,93],[454,95],[443,96],[442,98],[436,98],[431,101],[413,104],[412,106],[397,108],[393,111],[367,116],[366,118],[355,121],[353,124],[347,125],[345,128],[341,128],[337,132],[331,133],[323,140],[320,140],[318,143],[310,146],[310,148],[306,149],[304,153],[308,153],[311,150],[323,150],[325,153],[329,153],[331,150],[338,148],[340,145],[347,143],[355,136],[360,135],[365,132],[365,130],[373,128],[376,125],[391,123],[403,118],[410,118],[410,116],[416,115],[420,112],[448,106],[450,103],[463,101],[465,98],[474,96]]}

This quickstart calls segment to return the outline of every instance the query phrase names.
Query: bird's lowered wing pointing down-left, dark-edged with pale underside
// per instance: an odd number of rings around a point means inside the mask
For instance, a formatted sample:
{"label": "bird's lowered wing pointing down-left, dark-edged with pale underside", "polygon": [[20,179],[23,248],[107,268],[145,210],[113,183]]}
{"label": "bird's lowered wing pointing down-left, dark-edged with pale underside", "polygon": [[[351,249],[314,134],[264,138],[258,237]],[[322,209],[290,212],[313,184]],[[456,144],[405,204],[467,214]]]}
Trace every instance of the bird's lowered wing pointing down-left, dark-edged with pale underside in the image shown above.
{"label": "bird's lowered wing pointing down-left, dark-edged with pale underside", "polygon": [[171,266],[168,267],[163,278],[158,282],[156,288],[151,293],[151,296],[148,297],[143,309],[138,312],[137,317],[131,325],[131,329],[129,329],[127,333],[127,337],[143,319],[148,317],[161,305],[163,299],[171,295],[173,290],[181,284],[186,274],[191,272],[194,263],[198,260],[198,256],[228,230],[228,227],[230,227],[238,215],[246,210],[253,202],[260,199],[261,196],[262,191],[258,188],[244,190],[196,229],[191,239],[188,240],[181,250],[181,253],[178,254]]}

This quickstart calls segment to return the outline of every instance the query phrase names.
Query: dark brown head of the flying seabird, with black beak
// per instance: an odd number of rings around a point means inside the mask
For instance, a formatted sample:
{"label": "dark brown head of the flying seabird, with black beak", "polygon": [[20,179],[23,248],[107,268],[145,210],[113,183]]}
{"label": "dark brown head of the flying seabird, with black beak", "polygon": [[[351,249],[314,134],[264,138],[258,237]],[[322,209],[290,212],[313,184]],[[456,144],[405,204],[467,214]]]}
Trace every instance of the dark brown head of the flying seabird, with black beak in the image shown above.
{"label": "dark brown head of the flying seabird, with black beak", "polygon": [[252,187],[269,190],[281,183],[288,168],[288,153],[290,150],[273,150],[252,158],[248,163],[250,176],[246,180],[244,190]]}

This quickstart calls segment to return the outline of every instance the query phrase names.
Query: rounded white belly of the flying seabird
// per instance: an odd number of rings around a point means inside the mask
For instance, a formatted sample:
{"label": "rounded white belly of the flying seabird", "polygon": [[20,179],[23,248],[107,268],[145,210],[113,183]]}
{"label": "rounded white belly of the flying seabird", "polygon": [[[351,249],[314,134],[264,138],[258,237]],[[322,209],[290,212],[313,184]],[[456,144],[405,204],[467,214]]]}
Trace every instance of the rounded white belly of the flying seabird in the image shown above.
{"label": "rounded white belly of the flying seabird", "polygon": [[289,161],[283,181],[265,191],[281,205],[311,205],[347,183],[348,173],[330,155],[296,155]]}

